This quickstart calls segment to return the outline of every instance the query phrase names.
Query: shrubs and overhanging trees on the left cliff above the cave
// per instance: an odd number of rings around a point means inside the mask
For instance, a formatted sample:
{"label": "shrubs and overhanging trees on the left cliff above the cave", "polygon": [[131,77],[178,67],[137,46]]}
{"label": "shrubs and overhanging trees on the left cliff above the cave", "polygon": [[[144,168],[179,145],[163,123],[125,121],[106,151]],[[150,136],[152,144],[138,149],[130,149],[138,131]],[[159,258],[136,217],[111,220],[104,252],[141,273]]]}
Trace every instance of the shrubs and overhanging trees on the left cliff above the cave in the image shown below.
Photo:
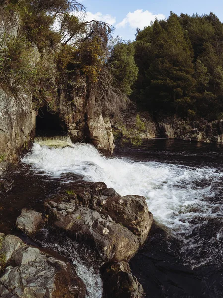
{"label": "shrubs and overhanging trees on the left cliff above the cave", "polygon": [[[130,43],[115,47],[115,58],[111,59],[108,67],[111,56],[108,40],[112,26],[78,18],[74,12],[84,10],[84,7],[76,0],[12,0],[6,10],[8,13],[17,11],[21,29],[17,39],[7,40],[2,47],[2,83],[6,83],[13,92],[19,88],[26,89],[38,108],[43,101],[47,105],[55,101],[59,96],[57,90],[69,92],[69,84],[81,75],[86,78],[88,99],[94,98],[104,115],[120,114],[128,103],[126,94],[130,94],[137,67]],[[55,22],[57,29],[53,28]],[[32,48],[39,55],[34,62],[30,59],[33,57],[30,54]],[[122,50],[123,55],[119,57]],[[132,70],[129,62],[134,66]],[[115,64],[118,64],[116,71],[120,69],[119,74],[122,69],[128,74],[122,75],[120,83],[117,72],[114,72]]]}

